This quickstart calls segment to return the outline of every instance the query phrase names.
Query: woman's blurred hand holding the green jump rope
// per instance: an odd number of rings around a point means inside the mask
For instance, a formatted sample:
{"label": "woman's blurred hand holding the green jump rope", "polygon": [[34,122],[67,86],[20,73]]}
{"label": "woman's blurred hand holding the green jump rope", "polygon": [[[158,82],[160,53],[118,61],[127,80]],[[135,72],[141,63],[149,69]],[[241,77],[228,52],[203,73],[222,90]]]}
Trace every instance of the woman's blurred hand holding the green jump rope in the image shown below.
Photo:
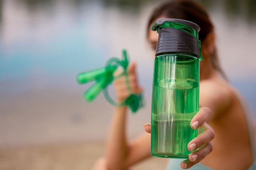
{"label": "woman's blurred hand holding the green jump rope", "polygon": [[[129,85],[132,93],[141,93],[142,88],[139,86],[137,82],[137,73],[136,73],[136,64],[131,63],[129,66]],[[115,91],[117,95],[117,102],[123,102],[127,97],[129,97],[130,92],[127,89],[127,84],[126,84],[126,77],[122,76],[119,79],[115,80],[114,86],[115,86]]]}

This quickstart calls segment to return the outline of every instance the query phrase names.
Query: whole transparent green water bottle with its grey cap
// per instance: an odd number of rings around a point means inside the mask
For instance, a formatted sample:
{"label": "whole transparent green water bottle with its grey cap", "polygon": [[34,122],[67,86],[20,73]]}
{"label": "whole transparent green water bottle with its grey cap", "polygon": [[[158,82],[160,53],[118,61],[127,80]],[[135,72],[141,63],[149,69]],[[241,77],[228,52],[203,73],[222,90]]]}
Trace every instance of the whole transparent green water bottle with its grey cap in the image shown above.
{"label": "whole transparent green water bottle with its grey cap", "polygon": [[161,18],[151,28],[158,33],[153,77],[151,155],[188,158],[187,145],[197,136],[190,126],[199,110],[202,60],[200,27],[186,20]]}

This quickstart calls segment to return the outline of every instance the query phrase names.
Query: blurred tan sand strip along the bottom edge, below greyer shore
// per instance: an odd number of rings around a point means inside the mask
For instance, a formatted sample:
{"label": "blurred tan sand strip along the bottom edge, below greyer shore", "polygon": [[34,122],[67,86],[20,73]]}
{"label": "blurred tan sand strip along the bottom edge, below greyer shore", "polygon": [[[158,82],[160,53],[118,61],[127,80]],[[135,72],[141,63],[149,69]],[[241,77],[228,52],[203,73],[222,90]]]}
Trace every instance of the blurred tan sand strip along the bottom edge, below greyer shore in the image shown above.
{"label": "blurred tan sand strip along the bottom edge, below greyer shore", "polygon": [[[104,153],[104,142],[0,149],[0,170],[90,170]],[[164,170],[168,159],[149,158],[132,170]]]}

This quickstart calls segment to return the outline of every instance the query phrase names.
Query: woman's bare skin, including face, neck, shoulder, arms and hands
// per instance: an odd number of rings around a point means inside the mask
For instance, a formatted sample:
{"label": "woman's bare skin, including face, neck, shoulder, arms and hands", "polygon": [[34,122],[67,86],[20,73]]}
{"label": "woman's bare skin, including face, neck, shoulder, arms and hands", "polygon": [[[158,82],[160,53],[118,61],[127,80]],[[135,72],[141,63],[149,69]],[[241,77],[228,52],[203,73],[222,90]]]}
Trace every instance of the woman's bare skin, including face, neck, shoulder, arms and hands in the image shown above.
{"label": "woman's bare skin, including face, neck, shoulder, arms and hands", "polygon": [[[158,34],[149,31],[148,42],[154,50],[157,39]],[[202,42],[204,60],[200,62],[201,108],[191,121],[191,128],[200,128],[202,133],[188,144],[190,151],[202,147],[180,164],[183,169],[191,168],[199,161],[205,166],[225,170],[246,169],[252,164],[249,133],[240,102],[233,88],[219,76],[211,64],[210,56],[215,48],[215,35],[209,33]],[[137,81],[135,63],[130,65],[129,79],[132,92],[141,93],[143,89]],[[117,100],[126,99],[129,93],[124,77],[118,79],[114,85]],[[126,117],[127,107],[115,108],[107,139],[106,156],[95,164],[93,170],[125,170],[150,157],[150,135],[145,133],[133,141],[128,141]],[[145,124],[144,129],[150,133],[150,124]]]}

